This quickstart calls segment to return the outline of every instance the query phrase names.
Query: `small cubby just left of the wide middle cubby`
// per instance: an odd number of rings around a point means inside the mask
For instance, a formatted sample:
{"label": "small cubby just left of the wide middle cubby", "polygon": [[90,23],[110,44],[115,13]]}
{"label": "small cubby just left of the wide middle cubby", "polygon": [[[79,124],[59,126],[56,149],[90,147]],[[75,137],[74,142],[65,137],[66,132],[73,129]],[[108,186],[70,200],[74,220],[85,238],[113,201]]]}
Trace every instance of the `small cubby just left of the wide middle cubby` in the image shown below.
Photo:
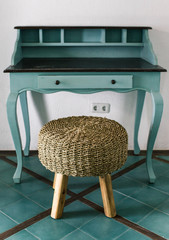
{"label": "small cubby just left of the wide middle cubby", "polygon": [[60,29],[43,29],[44,43],[58,43],[61,40]]}

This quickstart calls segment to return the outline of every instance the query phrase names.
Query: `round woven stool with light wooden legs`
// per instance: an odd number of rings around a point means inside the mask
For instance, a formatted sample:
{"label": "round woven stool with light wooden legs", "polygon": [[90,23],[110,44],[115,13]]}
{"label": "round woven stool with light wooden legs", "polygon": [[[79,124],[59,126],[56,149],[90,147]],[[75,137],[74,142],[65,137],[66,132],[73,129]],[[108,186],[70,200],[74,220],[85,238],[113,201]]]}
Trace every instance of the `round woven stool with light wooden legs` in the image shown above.
{"label": "round woven stool with light wooden legs", "polygon": [[68,117],[44,125],[39,134],[41,163],[55,172],[51,217],[61,218],[68,176],[99,176],[104,212],[114,217],[110,173],[127,159],[127,132],[119,123],[101,117]]}

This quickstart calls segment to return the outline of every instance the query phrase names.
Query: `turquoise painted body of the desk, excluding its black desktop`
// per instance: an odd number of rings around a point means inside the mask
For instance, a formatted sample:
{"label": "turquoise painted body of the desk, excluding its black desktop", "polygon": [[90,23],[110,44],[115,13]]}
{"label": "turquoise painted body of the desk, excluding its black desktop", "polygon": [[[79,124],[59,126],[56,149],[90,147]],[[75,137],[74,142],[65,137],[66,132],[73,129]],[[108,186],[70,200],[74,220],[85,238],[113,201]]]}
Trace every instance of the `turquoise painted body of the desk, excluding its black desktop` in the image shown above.
{"label": "turquoise painted body of the desk, excluding its black desktop", "polygon": [[[47,32],[45,32],[47,29]],[[117,29],[120,29],[118,27]],[[12,56],[12,65],[22,58],[142,58],[157,65],[157,58],[148,38],[148,28],[18,28],[18,36]],[[113,32],[114,31],[114,32]],[[115,36],[116,35],[116,36]],[[111,84],[111,79],[116,84]],[[55,80],[60,84],[56,85]],[[14,182],[19,183],[22,172],[22,144],[17,121],[17,99],[20,96],[26,132],[25,156],[29,155],[30,125],[27,106],[27,91],[54,93],[69,91],[92,94],[102,91],[119,93],[137,91],[134,152],[139,154],[138,132],[145,93],[152,96],[154,113],[147,144],[147,170],[150,182],[155,181],[152,167],[152,151],[159,129],[163,101],[160,95],[160,71],[138,72],[11,72],[10,94],[7,101],[8,121],[17,154],[17,169]]]}

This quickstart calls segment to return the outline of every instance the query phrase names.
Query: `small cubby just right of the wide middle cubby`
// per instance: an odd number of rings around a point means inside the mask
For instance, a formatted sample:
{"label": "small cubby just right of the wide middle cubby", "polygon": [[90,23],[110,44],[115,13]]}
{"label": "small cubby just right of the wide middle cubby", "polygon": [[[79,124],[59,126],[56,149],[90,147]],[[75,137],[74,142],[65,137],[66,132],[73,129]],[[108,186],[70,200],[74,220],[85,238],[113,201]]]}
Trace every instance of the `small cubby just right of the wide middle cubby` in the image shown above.
{"label": "small cubby just right of the wide middle cubby", "polygon": [[106,42],[120,43],[122,41],[122,29],[106,29]]}

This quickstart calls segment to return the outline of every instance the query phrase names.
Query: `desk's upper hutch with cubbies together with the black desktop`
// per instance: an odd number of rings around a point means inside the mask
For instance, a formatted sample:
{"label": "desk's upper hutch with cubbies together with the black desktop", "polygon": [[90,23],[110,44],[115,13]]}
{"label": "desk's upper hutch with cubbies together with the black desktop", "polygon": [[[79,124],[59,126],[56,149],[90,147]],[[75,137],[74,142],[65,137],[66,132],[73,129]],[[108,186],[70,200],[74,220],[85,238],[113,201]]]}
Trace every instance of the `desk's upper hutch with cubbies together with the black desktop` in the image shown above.
{"label": "desk's upper hutch with cubbies together with the black desktop", "polygon": [[[164,71],[144,26],[17,26],[5,72]],[[33,63],[33,65],[32,65]],[[97,63],[97,64],[96,64]]]}

